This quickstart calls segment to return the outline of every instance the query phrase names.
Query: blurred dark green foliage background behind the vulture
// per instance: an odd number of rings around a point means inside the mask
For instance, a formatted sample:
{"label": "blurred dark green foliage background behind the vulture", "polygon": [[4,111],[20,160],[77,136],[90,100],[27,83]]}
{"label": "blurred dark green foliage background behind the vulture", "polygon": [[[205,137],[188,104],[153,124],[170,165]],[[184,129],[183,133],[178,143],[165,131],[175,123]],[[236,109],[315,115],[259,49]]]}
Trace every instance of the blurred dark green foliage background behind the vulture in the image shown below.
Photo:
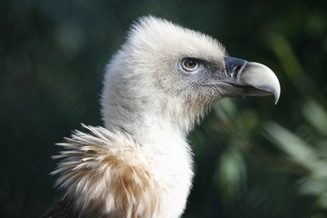
{"label": "blurred dark green foliage background behind the vulture", "polygon": [[327,217],[326,1],[0,1],[0,217],[60,199],[51,156],[101,125],[104,65],[141,15],[213,35],[272,68],[272,97],[217,104],[190,135],[196,177],[183,217]]}

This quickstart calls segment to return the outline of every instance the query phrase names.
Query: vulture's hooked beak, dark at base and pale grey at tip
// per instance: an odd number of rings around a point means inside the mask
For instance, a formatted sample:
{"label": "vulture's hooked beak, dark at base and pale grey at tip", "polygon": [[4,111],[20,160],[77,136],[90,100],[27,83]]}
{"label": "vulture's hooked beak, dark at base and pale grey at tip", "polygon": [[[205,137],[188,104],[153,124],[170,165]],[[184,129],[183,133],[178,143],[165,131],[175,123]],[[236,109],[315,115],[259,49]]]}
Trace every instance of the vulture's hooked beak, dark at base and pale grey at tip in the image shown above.
{"label": "vulture's hooked beak, dark at base and pale grey at tip", "polygon": [[235,94],[250,96],[273,94],[275,104],[277,104],[281,86],[277,76],[270,68],[263,64],[247,62],[231,56],[224,56],[223,60],[227,79],[222,82],[229,86],[228,90]]}

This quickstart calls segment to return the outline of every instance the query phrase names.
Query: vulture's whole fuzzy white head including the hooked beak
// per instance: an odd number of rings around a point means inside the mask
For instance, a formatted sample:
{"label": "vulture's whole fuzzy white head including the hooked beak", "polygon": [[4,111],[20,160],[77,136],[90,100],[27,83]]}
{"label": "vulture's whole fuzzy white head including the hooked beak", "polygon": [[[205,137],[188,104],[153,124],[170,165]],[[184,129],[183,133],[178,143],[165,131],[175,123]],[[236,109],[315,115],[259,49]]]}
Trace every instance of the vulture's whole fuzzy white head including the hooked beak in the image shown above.
{"label": "vulture's whole fuzzy white head including the hooked beak", "polygon": [[223,97],[273,94],[277,102],[280,95],[268,67],[228,56],[212,37],[152,16],[134,25],[107,72],[104,115],[118,111],[109,107],[119,102],[119,111],[135,116],[152,111],[192,124]]}

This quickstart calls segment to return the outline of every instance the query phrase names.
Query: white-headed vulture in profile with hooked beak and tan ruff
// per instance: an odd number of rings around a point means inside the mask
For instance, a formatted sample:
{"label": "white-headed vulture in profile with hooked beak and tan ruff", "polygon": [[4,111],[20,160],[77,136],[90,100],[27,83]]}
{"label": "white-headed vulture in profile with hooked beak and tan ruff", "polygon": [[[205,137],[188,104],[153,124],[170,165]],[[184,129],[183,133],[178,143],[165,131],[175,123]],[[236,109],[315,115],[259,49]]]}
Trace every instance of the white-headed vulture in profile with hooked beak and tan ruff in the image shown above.
{"label": "white-headed vulture in profile with hooked beak and tan ruff", "polygon": [[216,39],[152,15],[132,25],[106,65],[104,127],[59,144],[52,174],[64,197],[46,218],[181,217],[193,181],[187,135],[223,98],[272,94],[263,64],[227,55]]}

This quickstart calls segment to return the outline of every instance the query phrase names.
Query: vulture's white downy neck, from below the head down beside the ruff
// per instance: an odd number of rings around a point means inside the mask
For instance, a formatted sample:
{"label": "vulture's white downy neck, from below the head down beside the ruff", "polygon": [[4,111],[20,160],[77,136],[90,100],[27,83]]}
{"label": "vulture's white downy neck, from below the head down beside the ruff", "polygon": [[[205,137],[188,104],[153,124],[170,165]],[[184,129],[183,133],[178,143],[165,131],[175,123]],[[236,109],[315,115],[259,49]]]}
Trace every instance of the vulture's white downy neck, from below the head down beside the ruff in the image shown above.
{"label": "vulture's white downy neck, from below the head down beside the ruff", "polygon": [[[116,97],[117,95],[115,95]],[[108,99],[108,98],[107,98]],[[158,102],[158,99],[161,100]],[[172,110],[182,105],[168,104],[163,98],[154,101],[114,101],[103,109],[105,128],[132,138],[147,161],[160,200],[160,216],[179,217],[183,213],[193,179],[193,158],[186,135],[192,124],[188,114]],[[112,102],[113,103],[113,102]],[[124,104],[128,103],[128,104]],[[164,104],[162,104],[164,103]],[[185,117],[185,118],[184,118]],[[176,215],[178,214],[178,215]],[[141,216],[146,217],[146,216]]]}

